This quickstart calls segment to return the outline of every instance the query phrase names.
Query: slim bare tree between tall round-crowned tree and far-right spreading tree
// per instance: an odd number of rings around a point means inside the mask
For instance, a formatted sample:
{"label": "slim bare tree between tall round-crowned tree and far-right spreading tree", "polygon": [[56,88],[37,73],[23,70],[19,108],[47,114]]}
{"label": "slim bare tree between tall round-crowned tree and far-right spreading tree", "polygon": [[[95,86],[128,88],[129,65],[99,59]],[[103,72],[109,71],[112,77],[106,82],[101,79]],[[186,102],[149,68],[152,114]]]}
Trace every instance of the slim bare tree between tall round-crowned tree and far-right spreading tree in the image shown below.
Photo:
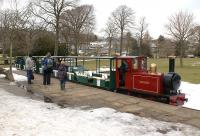
{"label": "slim bare tree between tall round-crowned tree and far-right spreading tree", "polygon": [[148,24],[146,23],[146,18],[141,17],[139,20],[139,24],[137,27],[138,35],[139,35],[139,55],[141,55],[142,47],[143,47],[143,39],[144,35],[147,32]]}

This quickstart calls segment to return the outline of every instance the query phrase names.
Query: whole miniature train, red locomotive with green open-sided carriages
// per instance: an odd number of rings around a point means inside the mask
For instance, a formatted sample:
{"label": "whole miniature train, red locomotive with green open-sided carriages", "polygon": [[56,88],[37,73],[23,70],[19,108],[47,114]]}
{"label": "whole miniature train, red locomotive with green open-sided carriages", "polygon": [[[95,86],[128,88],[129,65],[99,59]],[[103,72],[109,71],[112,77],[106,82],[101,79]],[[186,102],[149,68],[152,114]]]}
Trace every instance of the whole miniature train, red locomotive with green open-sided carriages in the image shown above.
{"label": "whole miniature train, red locomotive with green open-sided carriages", "polygon": [[[41,61],[44,56],[34,56],[35,72],[42,74]],[[65,61],[69,81],[106,90],[124,90],[128,94],[140,94],[171,105],[183,105],[185,94],[178,90],[181,77],[174,72],[174,59],[170,59],[169,72],[159,73],[156,64],[147,68],[147,57],[86,57],[53,56],[57,77],[57,63]],[[16,57],[15,66],[25,69],[25,57]],[[96,66],[94,68],[94,66]]]}

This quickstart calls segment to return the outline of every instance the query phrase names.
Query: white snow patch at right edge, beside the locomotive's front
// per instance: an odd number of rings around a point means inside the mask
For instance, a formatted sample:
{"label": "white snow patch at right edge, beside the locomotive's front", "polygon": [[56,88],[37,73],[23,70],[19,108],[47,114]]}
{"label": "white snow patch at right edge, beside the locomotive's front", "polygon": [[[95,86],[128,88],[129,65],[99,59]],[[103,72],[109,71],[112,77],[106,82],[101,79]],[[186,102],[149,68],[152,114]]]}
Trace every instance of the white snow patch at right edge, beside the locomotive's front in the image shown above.
{"label": "white snow patch at right edge, beside the locomotive's front", "polygon": [[183,106],[200,110],[200,84],[181,82],[180,89],[182,93],[185,93],[186,98],[188,98],[188,102]]}

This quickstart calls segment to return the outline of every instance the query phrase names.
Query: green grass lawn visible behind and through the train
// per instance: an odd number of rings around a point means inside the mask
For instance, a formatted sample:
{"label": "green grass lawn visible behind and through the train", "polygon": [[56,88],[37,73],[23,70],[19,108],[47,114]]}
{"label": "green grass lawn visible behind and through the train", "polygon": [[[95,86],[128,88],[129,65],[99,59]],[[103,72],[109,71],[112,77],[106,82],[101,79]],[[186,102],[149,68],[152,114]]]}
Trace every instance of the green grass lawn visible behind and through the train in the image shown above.
{"label": "green grass lawn visible behind and through the train", "polygon": [[[148,69],[151,63],[157,64],[157,71],[167,73],[169,70],[169,59],[148,59]],[[107,60],[101,60],[101,66],[109,67]],[[83,62],[78,62],[78,65],[83,65]],[[85,61],[85,68],[95,70],[96,61]],[[184,67],[180,67],[180,60],[176,59],[175,72],[181,75],[182,81],[200,84],[200,58],[184,58]]]}

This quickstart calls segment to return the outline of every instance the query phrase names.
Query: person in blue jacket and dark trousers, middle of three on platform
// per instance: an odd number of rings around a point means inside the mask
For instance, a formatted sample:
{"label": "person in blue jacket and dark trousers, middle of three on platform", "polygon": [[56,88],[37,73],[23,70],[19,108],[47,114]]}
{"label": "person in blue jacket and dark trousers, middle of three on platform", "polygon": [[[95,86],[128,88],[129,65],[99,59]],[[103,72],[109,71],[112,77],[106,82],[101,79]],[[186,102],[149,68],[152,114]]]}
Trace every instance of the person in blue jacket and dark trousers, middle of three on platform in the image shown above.
{"label": "person in blue jacket and dark trousers, middle of three on platform", "polygon": [[43,68],[43,85],[51,84],[51,73],[53,72],[53,60],[51,58],[51,53],[48,52],[46,57],[42,61]]}

